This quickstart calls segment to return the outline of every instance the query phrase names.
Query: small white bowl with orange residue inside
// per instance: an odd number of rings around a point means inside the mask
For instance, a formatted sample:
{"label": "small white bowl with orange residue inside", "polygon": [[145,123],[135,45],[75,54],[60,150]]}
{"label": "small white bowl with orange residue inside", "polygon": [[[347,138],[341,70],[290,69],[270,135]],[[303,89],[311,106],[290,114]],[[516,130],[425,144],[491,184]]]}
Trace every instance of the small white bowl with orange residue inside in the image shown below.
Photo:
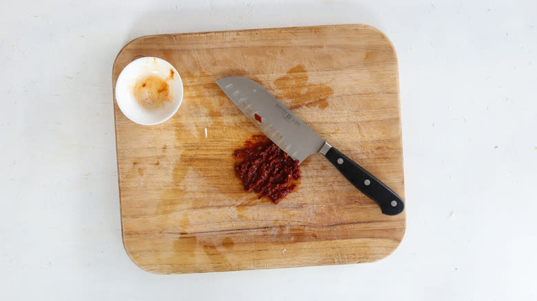
{"label": "small white bowl with orange residue inside", "polygon": [[181,105],[181,77],[176,68],[165,60],[138,58],[119,74],[116,101],[123,114],[138,124],[165,122]]}

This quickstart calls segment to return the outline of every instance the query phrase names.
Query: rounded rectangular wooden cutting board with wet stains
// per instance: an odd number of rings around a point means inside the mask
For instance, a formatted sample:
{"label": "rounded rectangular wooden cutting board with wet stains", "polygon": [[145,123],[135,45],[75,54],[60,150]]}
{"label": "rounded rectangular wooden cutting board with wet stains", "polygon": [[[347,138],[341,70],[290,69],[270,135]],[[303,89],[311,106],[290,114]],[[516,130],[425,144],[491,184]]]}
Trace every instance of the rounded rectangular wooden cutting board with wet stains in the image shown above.
{"label": "rounded rectangular wooden cutting board with wet stains", "polygon": [[[114,100],[127,254],[156,274],[366,263],[401,242],[386,216],[319,154],[280,204],[244,192],[233,150],[260,134],[216,85],[255,80],[348,157],[404,197],[394,47],[366,25],[165,34],[131,41],[113,84],[143,56],[176,67],[185,93],[170,120],[141,126]],[[207,137],[205,137],[207,129]]]}

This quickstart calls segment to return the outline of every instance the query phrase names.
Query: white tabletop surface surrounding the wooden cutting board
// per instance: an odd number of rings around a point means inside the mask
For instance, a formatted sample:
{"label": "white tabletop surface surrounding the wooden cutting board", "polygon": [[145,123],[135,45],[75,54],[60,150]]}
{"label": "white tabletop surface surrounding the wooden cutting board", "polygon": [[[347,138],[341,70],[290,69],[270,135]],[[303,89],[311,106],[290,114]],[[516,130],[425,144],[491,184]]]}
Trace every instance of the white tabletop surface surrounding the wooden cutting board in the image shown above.
{"label": "white tabletop surface surrounding the wooden cutting board", "polygon": [[[536,300],[535,1],[1,1],[0,299]],[[121,243],[112,64],[146,34],[366,23],[408,226],[377,263],[157,276]]]}

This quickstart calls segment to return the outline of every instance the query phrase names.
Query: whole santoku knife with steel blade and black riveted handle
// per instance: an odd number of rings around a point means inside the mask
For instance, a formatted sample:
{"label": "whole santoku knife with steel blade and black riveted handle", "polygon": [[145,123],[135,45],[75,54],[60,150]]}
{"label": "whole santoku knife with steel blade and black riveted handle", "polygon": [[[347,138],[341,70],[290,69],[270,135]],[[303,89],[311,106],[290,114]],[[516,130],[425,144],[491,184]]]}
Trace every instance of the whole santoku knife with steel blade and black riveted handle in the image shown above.
{"label": "whole santoku knife with steel blade and black riveted handle", "polygon": [[328,144],[257,82],[231,76],[216,83],[251,122],[293,159],[302,163],[310,155],[321,153],[353,186],[376,201],[383,214],[395,215],[404,210],[403,199],[393,190]]}

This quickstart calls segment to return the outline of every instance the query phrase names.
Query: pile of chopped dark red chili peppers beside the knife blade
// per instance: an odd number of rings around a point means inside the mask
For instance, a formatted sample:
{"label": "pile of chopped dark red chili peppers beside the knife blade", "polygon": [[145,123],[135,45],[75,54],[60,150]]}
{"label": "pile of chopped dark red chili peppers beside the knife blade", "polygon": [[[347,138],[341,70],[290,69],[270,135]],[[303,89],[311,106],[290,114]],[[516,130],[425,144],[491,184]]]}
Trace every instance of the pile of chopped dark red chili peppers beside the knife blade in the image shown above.
{"label": "pile of chopped dark red chili peppers beside the knife blade", "polygon": [[235,157],[243,159],[235,164],[235,175],[244,190],[253,190],[262,197],[278,203],[295,190],[292,180],[300,179],[299,161],[293,160],[264,135],[255,135],[246,142],[246,148],[235,150]]}

